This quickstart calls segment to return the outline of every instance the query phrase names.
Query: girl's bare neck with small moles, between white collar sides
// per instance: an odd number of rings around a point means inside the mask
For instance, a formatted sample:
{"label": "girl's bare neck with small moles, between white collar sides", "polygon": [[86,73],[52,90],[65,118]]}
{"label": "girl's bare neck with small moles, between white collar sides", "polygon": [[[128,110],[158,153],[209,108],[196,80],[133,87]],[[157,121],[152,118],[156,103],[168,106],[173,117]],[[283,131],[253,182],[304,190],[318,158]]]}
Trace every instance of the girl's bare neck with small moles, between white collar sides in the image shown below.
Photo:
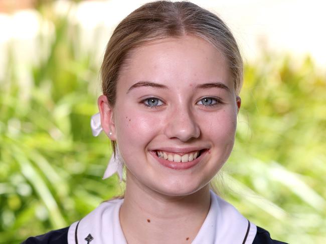
{"label": "girl's bare neck with small moles, between white collar sides", "polygon": [[189,195],[168,196],[127,175],[120,224],[129,244],[191,243],[209,207],[208,185]]}

